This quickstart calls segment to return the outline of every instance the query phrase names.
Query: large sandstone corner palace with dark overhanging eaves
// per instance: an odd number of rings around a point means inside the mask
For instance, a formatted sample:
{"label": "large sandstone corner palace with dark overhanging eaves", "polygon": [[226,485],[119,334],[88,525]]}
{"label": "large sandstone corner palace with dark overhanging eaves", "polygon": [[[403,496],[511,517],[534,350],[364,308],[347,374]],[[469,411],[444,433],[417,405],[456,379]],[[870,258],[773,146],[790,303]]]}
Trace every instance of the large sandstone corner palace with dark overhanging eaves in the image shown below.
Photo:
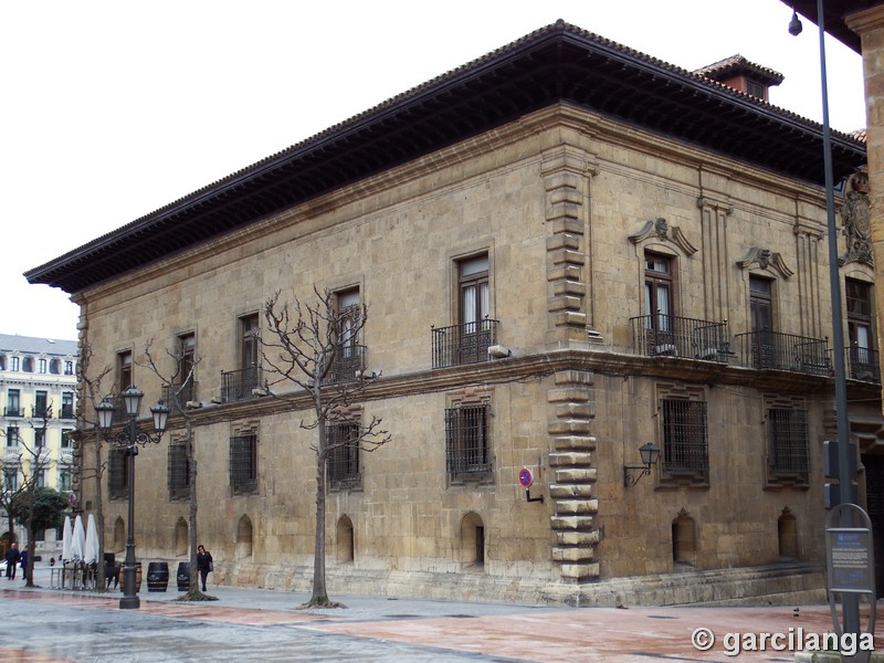
{"label": "large sandstone corner palace with dark overhanging eaves", "polygon": [[[262,398],[255,336],[274,293],[318,287],[368,305],[335,376],[380,373],[355,415],[393,435],[328,467],[332,592],[812,594],[832,352],[863,495],[884,420],[864,145],[833,136],[850,338],[833,348],[821,128],[767,103],[779,80],[740,57],[685,72],[558,22],[28,277],[81,304],[107,391],[161,398],[148,343],[196,362],[219,581],[309,583],[315,431],[306,400]],[[137,459],[144,559],[188,554],[181,425]],[[638,475],[645,443],[661,453]]]}

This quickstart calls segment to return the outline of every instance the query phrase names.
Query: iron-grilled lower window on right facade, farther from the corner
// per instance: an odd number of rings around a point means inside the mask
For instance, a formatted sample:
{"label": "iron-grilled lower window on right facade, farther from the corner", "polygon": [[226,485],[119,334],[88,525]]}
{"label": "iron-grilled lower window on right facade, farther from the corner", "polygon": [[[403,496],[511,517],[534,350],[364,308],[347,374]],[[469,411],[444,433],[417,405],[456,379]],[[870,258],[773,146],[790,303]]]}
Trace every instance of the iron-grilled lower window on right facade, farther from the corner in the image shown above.
{"label": "iron-grilled lower window on right facade, farther from the corner", "polygon": [[767,411],[767,432],[769,480],[772,482],[808,483],[807,411],[769,409]]}

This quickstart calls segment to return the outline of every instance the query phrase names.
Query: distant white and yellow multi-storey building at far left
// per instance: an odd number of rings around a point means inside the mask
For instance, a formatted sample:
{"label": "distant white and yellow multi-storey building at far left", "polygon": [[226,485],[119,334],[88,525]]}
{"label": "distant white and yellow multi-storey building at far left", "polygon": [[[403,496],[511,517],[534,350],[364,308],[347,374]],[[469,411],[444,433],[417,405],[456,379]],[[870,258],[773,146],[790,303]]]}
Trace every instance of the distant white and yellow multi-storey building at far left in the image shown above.
{"label": "distant white and yellow multi-storey building at far left", "polygon": [[[17,491],[23,482],[71,491],[72,441],[76,428],[76,361],[74,340],[54,340],[0,334],[0,398],[3,399],[3,491]],[[0,544],[9,545],[9,520],[3,514]],[[55,554],[55,532],[36,533],[36,554]],[[15,527],[15,540],[27,545],[24,527]]]}

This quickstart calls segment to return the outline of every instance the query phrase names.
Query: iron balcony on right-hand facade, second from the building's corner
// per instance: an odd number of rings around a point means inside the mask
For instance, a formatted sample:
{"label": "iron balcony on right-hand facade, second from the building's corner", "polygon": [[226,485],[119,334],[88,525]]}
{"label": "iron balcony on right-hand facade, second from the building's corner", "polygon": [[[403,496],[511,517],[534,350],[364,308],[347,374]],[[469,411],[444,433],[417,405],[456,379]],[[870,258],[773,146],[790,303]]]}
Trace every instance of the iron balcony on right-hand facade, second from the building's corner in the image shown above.
{"label": "iron balcony on right-hand facade, second from the building's corner", "polygon": [[788,370],[812,376],[832,375],[827,338],[778,332],[749,332],[737,334],[734,338],[743,357],[743,365],[748,368]]}

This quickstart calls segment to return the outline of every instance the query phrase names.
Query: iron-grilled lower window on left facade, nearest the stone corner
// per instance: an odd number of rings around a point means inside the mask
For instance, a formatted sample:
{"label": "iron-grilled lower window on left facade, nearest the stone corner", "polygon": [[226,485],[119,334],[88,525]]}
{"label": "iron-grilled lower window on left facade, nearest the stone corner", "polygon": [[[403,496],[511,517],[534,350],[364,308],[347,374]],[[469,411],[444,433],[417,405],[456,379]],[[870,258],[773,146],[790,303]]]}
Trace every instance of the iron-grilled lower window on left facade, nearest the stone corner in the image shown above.
{"label": "iron-grilled lower window on left facade, nearest the stone corner", "polygon": [[453,480],[491,474],[487,404],[445,410],[445,466]]}

